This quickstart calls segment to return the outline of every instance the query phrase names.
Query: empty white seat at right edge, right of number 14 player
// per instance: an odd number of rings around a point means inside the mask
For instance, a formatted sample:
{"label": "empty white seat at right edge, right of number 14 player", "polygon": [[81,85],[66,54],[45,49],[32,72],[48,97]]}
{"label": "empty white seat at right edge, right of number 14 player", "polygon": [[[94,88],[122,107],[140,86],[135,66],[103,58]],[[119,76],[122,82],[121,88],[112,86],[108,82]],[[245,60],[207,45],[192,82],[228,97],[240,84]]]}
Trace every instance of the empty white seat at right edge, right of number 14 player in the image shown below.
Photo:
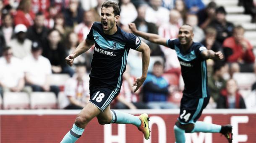
{"label": "empty white seat at right edge, right of number 14 player", "polygon": [[237,81],[239,89],[251,89],[251,85],[256,81],[255,73],[235,73],[233,78]]}

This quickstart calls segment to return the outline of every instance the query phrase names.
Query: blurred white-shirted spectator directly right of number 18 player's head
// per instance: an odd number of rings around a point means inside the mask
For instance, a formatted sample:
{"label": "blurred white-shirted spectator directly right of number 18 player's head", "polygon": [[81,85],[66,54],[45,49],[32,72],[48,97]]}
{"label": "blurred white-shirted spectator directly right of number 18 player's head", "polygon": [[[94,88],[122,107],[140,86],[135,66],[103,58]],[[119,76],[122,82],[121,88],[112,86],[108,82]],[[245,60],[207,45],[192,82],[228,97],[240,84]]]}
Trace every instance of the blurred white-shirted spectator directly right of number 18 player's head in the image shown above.
{"label": "blurred white-shirted spectator directly right of number 18 player's head", "polygon": [[131,3],[131,0],[120,0],[119,1],[121,13],[120,13],[120,23],[123,25],[128,25],[128,23],[133,22],[138,13],[135,6]]}

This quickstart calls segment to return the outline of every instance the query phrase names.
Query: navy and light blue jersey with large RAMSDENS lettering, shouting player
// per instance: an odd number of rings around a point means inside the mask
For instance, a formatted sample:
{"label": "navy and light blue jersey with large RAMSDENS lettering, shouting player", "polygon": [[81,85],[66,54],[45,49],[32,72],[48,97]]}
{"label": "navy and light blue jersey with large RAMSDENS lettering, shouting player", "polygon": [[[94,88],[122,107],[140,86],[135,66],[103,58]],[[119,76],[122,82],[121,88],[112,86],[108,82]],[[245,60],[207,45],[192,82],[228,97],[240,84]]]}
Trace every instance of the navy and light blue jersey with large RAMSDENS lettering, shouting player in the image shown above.
{"label": "navy and light blue jersey with large RAMSDENS lettering, shouting player", "polygon": [[107,35],[99,22],[92,25],[86,39],[95,43],[90,85],[92,82],[95,86],[120,91],[129,50],[136,50],[141,45],[141,40],[119,27],[115,34]]}

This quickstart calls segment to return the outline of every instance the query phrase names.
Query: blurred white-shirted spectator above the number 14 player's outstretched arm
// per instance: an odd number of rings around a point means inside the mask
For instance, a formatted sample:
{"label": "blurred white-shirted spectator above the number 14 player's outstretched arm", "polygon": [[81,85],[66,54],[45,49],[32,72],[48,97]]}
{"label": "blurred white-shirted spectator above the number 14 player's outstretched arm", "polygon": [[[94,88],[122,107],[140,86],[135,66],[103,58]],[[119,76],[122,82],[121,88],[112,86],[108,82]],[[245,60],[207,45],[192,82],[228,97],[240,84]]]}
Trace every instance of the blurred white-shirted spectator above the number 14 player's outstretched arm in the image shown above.
{"label": "blurred white-shirted spectator above the number 14 player's outstretched arm", "polygon": [[161,25],[168,23],[170,11],[162,7],[162,0],[149,0],[150,7],[146,9],[145,20],[149,23]]}

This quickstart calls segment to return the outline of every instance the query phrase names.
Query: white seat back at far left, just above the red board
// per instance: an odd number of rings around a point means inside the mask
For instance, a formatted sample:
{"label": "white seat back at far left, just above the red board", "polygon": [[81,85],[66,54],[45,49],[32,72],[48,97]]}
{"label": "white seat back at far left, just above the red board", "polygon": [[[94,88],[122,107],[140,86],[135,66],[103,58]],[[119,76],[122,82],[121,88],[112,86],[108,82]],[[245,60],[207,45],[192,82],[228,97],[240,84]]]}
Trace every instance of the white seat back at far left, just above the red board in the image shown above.
{"label": "white seat back at far left, just above the red board", "polygon": [[4,109],[29,109],[29,95],[22,92],[5,92]]}

